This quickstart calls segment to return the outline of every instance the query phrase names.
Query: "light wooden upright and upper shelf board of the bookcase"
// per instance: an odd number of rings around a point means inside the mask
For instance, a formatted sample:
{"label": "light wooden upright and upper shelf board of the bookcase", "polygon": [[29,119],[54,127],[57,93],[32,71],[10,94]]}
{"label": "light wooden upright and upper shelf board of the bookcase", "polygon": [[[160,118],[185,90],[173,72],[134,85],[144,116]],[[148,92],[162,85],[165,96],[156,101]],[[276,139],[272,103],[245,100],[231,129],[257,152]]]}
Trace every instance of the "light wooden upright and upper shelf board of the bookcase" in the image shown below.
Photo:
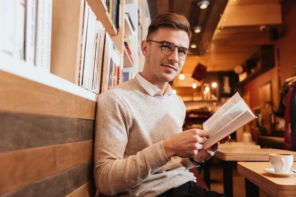
{"label": "light wooden upright and upper shelf board of the bookcase", "polygon": [[[123,52],[123,34],[118,33],[103,0],[87,0],[97,20]],[[71,6],[69,6],[71,5]],[[124,0],[120,1],[124,10]],[[84,0],[53,0],[50,72],[78,84]],[[121,14],[121,20],[123,16]],[[124,24],[122,21],[120,24]],[[123,27],[120,28],[121,32]]]}

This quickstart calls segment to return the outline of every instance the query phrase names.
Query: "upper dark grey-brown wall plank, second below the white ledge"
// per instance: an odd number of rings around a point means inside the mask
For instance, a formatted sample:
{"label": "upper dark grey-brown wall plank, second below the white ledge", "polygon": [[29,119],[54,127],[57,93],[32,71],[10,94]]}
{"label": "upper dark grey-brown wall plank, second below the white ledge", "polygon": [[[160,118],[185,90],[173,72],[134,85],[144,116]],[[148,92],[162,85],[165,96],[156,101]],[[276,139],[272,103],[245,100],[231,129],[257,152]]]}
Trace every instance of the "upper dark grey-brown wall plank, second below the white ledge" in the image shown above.
{"label": "upper dark grey-brown wall plank, second below the white ledge", "polygon": [[0,152],[91,140],[94,121],[0,111]]}

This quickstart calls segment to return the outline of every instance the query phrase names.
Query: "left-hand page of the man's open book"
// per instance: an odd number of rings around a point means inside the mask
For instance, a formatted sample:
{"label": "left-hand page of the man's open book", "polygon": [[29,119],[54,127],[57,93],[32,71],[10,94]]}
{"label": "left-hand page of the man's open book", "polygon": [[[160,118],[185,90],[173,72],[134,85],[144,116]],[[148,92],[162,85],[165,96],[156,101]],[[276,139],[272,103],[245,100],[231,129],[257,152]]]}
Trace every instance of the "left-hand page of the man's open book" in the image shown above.
{"label": "left-hand page of the man's open book", "polygon": [[221,119],[222,115],[226,111],[228,111],[233,105],[235,105],[239,100],[242,100],[242,98],[238,93],[236,93],[230,99],[228,99],[211,118],[209,118],[206,122],[203,123],[204,130],[211,130],[215,123],[218,122],[219,119]]}

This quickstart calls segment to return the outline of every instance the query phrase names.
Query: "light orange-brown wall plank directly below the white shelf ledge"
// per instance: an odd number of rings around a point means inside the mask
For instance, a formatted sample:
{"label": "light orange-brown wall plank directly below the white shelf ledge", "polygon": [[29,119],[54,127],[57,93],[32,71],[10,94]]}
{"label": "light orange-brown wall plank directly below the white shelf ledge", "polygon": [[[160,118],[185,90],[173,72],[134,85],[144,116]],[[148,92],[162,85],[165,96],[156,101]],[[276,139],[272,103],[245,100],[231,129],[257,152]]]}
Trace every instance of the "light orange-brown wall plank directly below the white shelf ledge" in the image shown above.
{"label": "light orange-brown wall plank directly below the white shelf ledge", "polygon": [[0,111],[95,119],[95,101],[4,71],[0,84]]}

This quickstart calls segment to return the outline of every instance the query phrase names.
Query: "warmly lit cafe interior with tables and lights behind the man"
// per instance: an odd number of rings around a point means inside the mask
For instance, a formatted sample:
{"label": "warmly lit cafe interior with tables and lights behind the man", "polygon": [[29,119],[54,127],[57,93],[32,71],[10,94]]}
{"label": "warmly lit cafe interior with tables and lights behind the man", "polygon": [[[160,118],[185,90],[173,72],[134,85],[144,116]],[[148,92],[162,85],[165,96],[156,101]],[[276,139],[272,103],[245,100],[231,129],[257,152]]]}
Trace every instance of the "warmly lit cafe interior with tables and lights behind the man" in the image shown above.
{"label": "warmly lit cafe interior with tables and lights behind the man", "polygon": [[237,92],[258,117],[194,170],[198,184],[227,197],[296,196],[296,176],[263,171],[272,167],[269,154],[296,156],[296,1],[148,0],[148,5],[151,19],[174,12],[192,26],[193,55],[170,83],[186,106],[183,131],[202,129]]}

